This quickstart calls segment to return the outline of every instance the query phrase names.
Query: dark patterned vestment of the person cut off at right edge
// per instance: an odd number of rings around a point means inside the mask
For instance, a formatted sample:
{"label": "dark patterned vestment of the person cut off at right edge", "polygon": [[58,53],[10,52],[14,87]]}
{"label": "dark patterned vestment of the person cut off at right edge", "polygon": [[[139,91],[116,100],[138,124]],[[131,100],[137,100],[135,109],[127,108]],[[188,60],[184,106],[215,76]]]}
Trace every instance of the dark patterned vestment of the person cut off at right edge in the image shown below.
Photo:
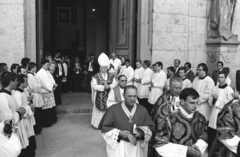
{"label": "dark patterned vestment of the person cut off at right edge", "polygon": [[217,137],[210,147],[209,157],[239,157],[240,144],[238,143],[237,153],[230,151],[219,140],[231,139],[234,136],[240,137],[240,102],[230,101],[219,112],[217,118]]}

